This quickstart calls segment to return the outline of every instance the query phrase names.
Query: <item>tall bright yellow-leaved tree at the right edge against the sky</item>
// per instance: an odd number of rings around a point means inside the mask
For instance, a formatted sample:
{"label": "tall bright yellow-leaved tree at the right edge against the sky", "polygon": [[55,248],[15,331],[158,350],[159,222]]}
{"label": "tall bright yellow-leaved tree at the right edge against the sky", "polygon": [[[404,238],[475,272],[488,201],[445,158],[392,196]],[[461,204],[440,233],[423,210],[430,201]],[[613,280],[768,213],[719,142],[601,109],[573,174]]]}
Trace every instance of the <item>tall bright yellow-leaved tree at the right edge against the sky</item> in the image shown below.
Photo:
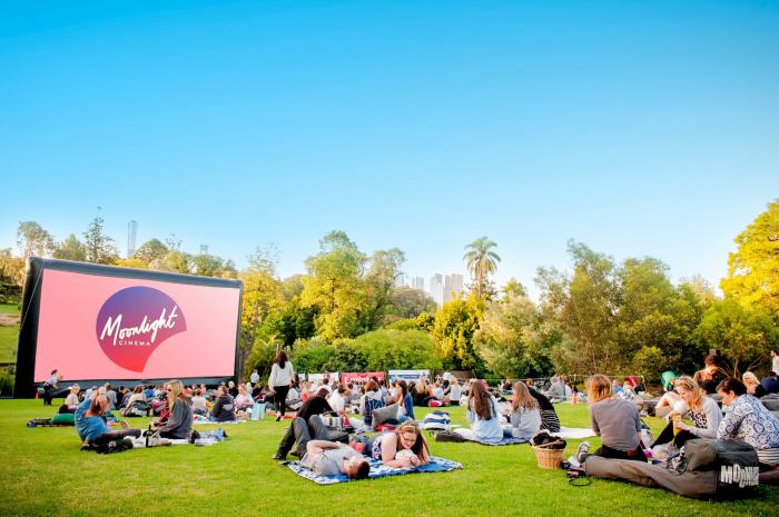
{"label": "tall bright yellow-leaved tree at the right edge against the sky", "polygon": [[736,237],[736,245],[728,277],[720,282],[726,298],[760,309],[779,322],[779,199]]}

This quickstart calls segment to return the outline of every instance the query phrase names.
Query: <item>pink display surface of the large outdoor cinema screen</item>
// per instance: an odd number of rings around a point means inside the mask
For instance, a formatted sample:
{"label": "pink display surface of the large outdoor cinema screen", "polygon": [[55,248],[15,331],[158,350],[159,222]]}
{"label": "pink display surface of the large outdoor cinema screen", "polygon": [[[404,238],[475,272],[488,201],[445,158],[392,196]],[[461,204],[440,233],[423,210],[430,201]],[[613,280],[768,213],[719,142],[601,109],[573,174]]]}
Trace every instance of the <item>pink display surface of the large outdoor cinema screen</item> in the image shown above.
{"label": "pink display surface of the large outdoor cinema screen", "polygon": [[45,270],[34,381],[235,372],[239,289]]}

